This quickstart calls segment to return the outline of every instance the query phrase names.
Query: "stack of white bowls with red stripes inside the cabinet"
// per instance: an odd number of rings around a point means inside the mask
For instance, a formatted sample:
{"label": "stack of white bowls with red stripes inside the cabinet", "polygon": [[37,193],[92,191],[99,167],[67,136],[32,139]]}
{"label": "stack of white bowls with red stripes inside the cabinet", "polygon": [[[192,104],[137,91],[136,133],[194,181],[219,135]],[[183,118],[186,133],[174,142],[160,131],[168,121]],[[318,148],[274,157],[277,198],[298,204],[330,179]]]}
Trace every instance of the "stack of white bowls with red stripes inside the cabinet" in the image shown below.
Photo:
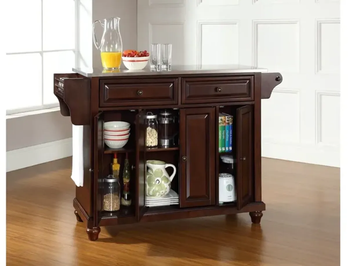
{"label": "stack of white bowls with red stripes inside the cabinet", "polygon": [[130,135],[130,124],[123,121],[110,121],[104,123],[104,142],[113,149],[126,145]]}

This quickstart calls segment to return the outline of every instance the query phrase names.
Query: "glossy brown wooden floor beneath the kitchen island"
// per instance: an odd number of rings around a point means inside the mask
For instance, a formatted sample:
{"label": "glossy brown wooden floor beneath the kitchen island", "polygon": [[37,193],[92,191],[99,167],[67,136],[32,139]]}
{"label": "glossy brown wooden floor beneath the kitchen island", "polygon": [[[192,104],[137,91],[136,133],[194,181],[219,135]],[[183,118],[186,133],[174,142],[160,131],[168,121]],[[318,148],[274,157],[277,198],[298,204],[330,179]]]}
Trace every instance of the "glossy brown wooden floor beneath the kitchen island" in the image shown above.
{"label": "glossy brown wooden floor beneath the kitchen island", "polygon": [[71,158],[7,173],[7,265],[339,265],[339,169],[262,160],[260,225],[247,213],[102,227],[76,222]]}

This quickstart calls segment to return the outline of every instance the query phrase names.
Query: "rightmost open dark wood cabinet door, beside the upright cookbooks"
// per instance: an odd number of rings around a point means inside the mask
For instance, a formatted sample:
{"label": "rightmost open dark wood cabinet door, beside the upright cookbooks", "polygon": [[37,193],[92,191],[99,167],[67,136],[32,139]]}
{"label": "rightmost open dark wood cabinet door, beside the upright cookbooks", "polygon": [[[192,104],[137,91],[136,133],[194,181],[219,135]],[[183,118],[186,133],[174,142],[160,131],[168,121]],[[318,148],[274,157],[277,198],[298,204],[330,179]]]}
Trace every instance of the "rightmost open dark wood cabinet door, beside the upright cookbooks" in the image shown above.
{"label": "rightmost open dark wood cabinet door, beside the upright cookbooks", "polygon": [[237,208],[253,201],[253,108],[237,109]]}

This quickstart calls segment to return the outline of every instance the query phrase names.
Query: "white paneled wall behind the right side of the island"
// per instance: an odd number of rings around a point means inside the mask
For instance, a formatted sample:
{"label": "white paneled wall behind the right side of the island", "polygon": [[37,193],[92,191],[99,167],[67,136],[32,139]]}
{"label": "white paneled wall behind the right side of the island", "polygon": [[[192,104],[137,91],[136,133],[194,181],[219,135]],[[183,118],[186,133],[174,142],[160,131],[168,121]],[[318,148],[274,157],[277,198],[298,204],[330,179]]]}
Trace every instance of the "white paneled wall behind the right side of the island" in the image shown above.
{"label": "white paneled wall behind the right side of the island", "polygon": [[138,0],[137,48],[172,43],[173,64],[280,72],[262,100],[262,156],[339,166],[336,0]]}

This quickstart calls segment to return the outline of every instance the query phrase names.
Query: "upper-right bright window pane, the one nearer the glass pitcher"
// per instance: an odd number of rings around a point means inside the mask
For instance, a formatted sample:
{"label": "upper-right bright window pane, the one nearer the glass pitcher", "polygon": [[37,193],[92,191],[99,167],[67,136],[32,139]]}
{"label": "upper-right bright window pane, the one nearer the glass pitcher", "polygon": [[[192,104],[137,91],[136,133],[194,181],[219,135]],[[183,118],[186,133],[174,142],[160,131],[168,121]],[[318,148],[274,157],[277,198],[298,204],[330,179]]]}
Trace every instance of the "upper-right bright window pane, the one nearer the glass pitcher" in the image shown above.
{"label": "upper-right bright window pane, the one nearer the glass pitcher", "polygon": [[44,50],[75,48],[75,1],[42,0]]}

